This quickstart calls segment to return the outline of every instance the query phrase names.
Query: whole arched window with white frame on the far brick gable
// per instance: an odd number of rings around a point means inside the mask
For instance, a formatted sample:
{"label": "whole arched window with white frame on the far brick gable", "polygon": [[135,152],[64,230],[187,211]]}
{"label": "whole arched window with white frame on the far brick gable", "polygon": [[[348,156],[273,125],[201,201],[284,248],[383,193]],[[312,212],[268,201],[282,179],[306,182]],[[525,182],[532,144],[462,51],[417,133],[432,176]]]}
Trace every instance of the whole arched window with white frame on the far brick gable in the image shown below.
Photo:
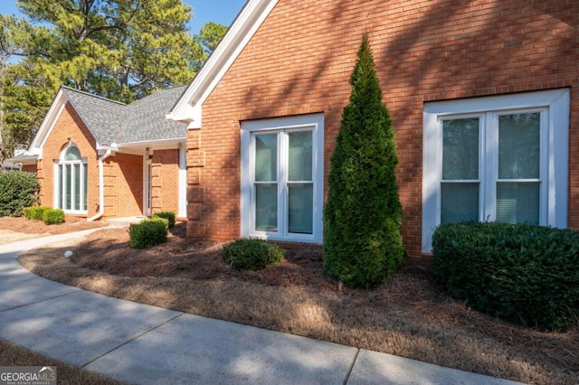
{"label": "whole arched window with white frame on the far brick gable", "polygon": [[70,144],[56,164],[55,206],[66,212],[87,212],[87,162],[79,147]]}

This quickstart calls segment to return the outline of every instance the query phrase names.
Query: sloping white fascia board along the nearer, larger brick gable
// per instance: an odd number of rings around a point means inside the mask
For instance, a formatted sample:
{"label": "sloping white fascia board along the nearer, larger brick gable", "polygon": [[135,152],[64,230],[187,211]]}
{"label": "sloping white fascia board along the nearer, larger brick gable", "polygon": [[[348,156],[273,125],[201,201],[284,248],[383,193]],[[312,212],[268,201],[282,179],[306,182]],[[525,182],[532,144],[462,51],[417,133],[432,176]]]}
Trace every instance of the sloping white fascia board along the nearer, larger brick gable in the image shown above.
{"label": "sloping white fascia board along the nearer, larger brick gable", "polygon": [[205,62],[195,79],[185,89],[173,110],[166,115],[169,120],[185,121],[189,128],[201,127],[201,106],[213,92],[223,75],[230,69],[261,23],[278,4],[278,0],[250,0],[237,16],[222,42]]}

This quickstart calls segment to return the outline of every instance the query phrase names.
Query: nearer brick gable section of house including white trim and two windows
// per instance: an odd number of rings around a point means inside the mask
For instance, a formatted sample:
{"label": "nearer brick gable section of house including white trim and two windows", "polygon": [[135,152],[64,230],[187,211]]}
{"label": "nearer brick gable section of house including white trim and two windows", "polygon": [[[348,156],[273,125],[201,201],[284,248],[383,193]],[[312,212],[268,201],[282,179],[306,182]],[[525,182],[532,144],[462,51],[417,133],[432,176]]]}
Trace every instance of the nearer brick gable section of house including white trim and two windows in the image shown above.
{"label": "nearer brick gable section of house including white trim and two windows", "polygon": [[443,222],[579,229],[578,24],[576,0],[249,0],[167,116],[188,128],[187,234],[323,241],[363,33],[411,255]]}

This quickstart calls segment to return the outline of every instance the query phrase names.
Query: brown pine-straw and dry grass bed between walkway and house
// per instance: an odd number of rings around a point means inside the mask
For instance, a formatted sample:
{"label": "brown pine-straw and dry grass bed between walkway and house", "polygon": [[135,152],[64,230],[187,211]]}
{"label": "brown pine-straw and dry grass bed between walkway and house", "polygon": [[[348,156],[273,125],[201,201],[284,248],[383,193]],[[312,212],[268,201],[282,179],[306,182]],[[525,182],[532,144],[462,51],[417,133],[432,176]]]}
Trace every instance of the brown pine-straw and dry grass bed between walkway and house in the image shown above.
{"label": "brown pine-straw and dry grass bed between walkway and house", "polygon": [[20,261],[68,285],[195,315],[528,383],[579,378],[579,330],[540,333],[471,311],[434,285],[428,259],[352,290],[324,275],[318,246],[282,245],[279,265],[240,272],[223,263],[222,244],[185,239],[184,227],[152,249],[129,249],[127,230],[107,229]]}

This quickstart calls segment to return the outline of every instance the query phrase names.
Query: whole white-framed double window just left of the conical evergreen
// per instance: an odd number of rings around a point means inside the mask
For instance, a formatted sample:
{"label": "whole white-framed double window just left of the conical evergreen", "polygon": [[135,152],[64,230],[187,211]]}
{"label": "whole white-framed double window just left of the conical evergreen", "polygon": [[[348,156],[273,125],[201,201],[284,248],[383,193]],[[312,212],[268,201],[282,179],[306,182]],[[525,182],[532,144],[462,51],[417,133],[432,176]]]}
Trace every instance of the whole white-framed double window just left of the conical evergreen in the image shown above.
{"label": "whole white-framed double window just left of the conical evergreen", "polygon": [[323,116],[242,124],[242,236],[322,241]]}

